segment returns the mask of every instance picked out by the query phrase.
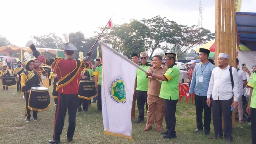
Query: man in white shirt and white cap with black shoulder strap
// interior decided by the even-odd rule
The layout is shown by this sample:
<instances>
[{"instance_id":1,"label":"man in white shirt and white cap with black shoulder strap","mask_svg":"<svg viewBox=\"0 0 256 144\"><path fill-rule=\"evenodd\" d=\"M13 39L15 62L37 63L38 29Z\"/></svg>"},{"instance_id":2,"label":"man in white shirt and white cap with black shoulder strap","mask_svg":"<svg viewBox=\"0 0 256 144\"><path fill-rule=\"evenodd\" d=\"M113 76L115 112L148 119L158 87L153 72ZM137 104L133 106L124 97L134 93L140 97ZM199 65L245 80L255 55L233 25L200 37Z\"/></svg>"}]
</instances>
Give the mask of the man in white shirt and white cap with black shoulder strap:
<instances>
[{"instance_id":1,"label":"man in white shirt and white cap with black shoulder strap","mask_svg":"<svg viewBox=\"0 0 256 144\"><path fill-rule=\"evenodd\" d=\"M230 108L234 106L236 109L238 106L239 82L237 70L228 65L228 58L228 54L224 53L220 53L218 56L218 67L212 70L206 103L210 107L212 102L214 137L211 139L222 138L224 133L225 142L232 142L232 112ZM230 68L232 77L230 76ZM232 78L234 88L232 88ZM223 132L222 113L224 118Z\"/></svg>"}]
</instances>

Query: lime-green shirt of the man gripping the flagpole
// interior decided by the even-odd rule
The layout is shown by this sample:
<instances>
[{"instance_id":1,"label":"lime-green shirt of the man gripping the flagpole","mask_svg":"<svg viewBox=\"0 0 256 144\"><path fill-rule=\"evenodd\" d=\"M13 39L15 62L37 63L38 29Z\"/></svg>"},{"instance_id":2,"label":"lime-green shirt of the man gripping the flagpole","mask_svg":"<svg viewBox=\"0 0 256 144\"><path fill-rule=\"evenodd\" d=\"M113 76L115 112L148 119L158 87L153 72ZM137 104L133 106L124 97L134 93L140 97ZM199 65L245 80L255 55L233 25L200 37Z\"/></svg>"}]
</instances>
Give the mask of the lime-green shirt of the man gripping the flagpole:
<instances>
[{"instance_id":1,"label":"lime-green shirt of the man gripping the flagpole","mask_svg":"<svg viewBox=\"0 0 256 144\"><path fill-rule=\"evenodd\" d=\"M166 78L167 81L162 82L159 97L167 100L178 100L180 69L177 64L175 63L169 66L163 76Z\"/></svg>"}]
</instances>

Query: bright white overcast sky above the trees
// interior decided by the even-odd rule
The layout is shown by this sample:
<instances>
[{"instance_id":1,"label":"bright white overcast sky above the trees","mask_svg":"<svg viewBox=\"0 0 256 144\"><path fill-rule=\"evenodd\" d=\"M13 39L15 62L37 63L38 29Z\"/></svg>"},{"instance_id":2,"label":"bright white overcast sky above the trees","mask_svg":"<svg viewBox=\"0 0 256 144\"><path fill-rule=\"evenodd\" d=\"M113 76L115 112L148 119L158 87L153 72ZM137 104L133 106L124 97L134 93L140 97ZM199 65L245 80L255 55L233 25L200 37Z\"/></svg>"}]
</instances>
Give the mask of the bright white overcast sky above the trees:
<instances>
[{"instance_id":1,"label":"bright white overcast sky above the trees","mask_svg":"<svg viewBox=\"0 0 256 144\"><path fill-rule=\"evenodd\" d=\"M198 25L200 0L1 0L0 35L25 46L32 36L81 31L96 35L112 17L114 24L160 15L182 25ZM202 27L215 31L215 0L201 0ZM242 0L241 12L256 12L256 0Z\"/></svg>"}]
</instances>

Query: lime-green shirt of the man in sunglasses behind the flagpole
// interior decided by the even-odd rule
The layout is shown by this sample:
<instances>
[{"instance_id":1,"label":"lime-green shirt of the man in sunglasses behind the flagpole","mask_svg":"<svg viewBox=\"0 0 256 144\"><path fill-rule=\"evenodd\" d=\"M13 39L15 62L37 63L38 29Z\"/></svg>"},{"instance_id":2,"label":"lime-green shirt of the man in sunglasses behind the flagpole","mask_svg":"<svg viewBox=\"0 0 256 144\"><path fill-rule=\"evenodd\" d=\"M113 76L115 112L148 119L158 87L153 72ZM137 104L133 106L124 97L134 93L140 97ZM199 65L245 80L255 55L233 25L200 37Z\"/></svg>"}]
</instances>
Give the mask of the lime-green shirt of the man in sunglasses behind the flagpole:
<instances>
[{"instance_id":1,"label":"lime-green shirt of the man in sunglasses behind the flagpole","mask_svg":"<svg viewBox=\"0 0 256 144\"><path fill-rule=\"evenodd\" d=\"M145 65L141 65L140 67L142 67L144 70L148 70L150 66L152 66L152 64L146 63ZM138 68L136 72L136 77L137 77L136 90L145 91L145 92L148 91L148 78L146 73Z\"/></svg>"}]
</instances>

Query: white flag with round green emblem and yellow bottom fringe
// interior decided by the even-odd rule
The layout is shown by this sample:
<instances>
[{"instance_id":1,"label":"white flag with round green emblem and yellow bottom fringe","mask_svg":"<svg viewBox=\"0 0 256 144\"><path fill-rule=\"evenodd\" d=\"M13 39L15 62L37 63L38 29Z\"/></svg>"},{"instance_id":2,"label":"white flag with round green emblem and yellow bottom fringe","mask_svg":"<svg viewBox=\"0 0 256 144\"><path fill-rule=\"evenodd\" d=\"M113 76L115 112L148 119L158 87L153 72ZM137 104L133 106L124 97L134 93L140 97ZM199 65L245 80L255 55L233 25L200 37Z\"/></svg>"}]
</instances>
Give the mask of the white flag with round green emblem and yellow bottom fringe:
<instances>
[{"instance_id":1,"label":"white flag with round green emblem and yellow bottom fringe","mask_svg":"<svg viewBox=\"0 0 256 144\"><path fill-rule=\"evenodd\" d=\"M102 47L102 116L104 133L132 140L131 109L137 67Z\"/></svg>"}]
</instances>

